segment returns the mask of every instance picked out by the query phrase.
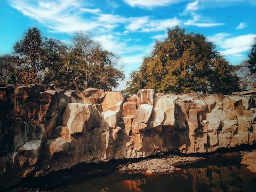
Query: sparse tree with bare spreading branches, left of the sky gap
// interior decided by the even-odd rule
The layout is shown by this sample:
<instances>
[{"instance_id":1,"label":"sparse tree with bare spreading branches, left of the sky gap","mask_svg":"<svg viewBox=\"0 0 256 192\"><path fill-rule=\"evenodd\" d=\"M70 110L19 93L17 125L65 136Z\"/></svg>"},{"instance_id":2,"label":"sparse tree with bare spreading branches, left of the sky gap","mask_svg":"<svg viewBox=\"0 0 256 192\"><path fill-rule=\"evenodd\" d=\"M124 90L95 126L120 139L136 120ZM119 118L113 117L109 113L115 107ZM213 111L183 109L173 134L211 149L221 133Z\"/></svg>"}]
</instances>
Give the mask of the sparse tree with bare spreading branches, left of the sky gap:
<instances>
[{"instance_id":1,"label":"sparse tree with bare spreading branches, left of the sky gap","mask_svg":"<svg viewBox=\"0 0 256 192\"><path fill-rule=\"evenodd\" d=\"M89 36L77 33L74 46L67 47L50 39L45 44L47 55L44 82L54 82L57 87L84 90L88 87L111 90L124 78L123 72L114 68L115 54L103 50ZM60 80L61 79L61 80Z\"/></svg>"}]
</instances>

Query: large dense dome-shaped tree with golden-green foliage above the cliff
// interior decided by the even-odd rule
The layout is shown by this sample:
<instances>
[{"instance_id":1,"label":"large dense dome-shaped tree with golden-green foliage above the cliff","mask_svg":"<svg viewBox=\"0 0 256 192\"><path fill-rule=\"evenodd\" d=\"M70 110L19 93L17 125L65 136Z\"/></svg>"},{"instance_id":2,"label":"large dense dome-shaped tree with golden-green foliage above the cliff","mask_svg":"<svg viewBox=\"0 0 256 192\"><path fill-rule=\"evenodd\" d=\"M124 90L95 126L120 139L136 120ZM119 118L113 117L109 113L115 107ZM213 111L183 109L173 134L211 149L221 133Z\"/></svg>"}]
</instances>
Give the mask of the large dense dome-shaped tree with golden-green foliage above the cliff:
<instances>
[{"instance_id":1,"label":"large dense dome-shaped tree with golden-green foliage above the cliff","mask_svg":"<svg viewBox=\"0 0 256 192\"><path fill-rule=\"evenodd\" d=\"M221 77L224 74L231 79ZM139 88L176 94L237 91L236 76L215 46L203 35L186 34L178 26L168 30L164 41L156 41L151 55L145 57L139 71L131 75L126 89L129 93L136 93ZM216 79L217 75L220 76Z\"/></svg>"}]
</instances>

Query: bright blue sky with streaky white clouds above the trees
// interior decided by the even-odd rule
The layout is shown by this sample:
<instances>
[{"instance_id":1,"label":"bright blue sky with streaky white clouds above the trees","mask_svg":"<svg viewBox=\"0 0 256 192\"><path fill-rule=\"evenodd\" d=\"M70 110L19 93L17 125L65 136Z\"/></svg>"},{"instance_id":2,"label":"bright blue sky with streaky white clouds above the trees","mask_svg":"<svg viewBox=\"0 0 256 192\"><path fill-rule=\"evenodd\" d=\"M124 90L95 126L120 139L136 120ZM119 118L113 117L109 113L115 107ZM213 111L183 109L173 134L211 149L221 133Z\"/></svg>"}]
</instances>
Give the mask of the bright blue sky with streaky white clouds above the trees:
<instances>
[{"instance_id":1,"label":"bright blue sky with streaky white clouds above the trees","mask_svg":"<svg viewBox=\"0 0 256 192\"><path fill-rule=\"evenodd\" d=\"M82 31L118 56L123 90L167 29L203 34L237 65L255 42L255 24L256 0L0 0L0 55L12 53L29 28L67 44Z\"/></svg>"}]
</instances>

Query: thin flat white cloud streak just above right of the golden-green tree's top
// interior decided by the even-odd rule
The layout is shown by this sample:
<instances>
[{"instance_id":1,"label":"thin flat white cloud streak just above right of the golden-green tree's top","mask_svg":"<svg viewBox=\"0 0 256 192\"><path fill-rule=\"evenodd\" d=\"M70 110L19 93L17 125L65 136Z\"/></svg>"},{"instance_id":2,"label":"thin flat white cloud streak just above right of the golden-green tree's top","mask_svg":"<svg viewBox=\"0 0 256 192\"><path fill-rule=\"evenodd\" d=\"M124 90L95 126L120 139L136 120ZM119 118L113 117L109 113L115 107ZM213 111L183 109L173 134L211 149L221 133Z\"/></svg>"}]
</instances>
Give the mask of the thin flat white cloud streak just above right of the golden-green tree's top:
<instances>
[{"instance_id":1,"label":"thin flat white cloud streak just above right of the golden-green tree's top","mask_svg":"<svg viewBox=\"0 0 256 192\"><path fill-rule=\"evenodd\" d=\"M215 26L225 25L225 23L211 22L211 20L209 20L208 18L201 17L194 13L192 13L192 16L193 16L193 19L188 20L187 22L184 23L184 25L194 25L197 27L215 27Z\"/></svg>"}]
</instances>

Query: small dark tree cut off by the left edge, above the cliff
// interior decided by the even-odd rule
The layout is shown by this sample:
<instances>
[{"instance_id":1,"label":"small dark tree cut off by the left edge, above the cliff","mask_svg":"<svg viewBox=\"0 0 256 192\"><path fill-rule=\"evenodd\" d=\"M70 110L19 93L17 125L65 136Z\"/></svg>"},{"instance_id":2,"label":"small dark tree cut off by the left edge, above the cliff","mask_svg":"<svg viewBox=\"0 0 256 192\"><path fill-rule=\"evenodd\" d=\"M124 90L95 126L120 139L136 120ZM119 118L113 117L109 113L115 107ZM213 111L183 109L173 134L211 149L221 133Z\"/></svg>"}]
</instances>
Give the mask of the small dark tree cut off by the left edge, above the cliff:
<instances>
[{"instance_id":1,"label":"small dark tree cut off by the left edge, above the cliff","mask_svg":"<svg viewBox=\"0 0 256 192\"><path fill-rule=\"evenodd\" d=\"M13 56L3 55L0 57L0 82L15 83L14 72L15 66Z\"/></svg>"}]
</instances>

